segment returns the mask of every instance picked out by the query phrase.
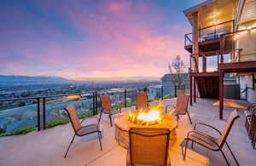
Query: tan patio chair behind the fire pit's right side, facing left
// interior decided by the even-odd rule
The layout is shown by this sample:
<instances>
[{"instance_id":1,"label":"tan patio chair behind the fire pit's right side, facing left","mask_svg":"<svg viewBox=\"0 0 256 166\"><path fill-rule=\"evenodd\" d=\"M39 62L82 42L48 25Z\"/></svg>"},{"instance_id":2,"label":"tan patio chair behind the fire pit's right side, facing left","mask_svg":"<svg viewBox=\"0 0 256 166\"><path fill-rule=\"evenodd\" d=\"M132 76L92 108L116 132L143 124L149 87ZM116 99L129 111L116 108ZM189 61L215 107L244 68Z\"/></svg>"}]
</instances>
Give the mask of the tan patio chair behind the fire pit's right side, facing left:
<instances>
[{"instance_id":1,"label":"tan patio chair behind the fire pit's right side, facing left","mask_svg":"<svg viewBox=\"0 0 256 166\"><path fill-rule=\"evenodd\" d=\"M177 117L177 126L178 126L179 116L185 115L185 114L188 115L189 122L192 124L192 120L191 120L191 117L190 117L189 111L188 111L189 97L190 97L189 95L177 95L176 106L172 106L172 105L166 106L166 113L170 112L172 110L175 112L174 115ZM170 106L172 107L172 109L169 109Z\"/></svg>"}]
</instances>

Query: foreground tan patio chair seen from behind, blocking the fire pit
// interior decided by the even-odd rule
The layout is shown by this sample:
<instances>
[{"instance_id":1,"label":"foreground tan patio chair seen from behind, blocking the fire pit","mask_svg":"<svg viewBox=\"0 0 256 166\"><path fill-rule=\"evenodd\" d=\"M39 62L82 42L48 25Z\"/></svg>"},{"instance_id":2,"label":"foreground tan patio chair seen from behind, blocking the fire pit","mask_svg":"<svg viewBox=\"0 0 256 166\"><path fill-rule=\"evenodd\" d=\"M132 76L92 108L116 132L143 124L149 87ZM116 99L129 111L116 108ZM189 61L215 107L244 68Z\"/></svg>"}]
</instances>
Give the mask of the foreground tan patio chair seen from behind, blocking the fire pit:
<instances>
[{"instance_id":1,"label":"foreground tan patio chair seen from behind, blocking the fire pit","mask_svg":"<svg viewBox=\"0 0 256 166\"><path fill-rule=\"evenodd\" d=\"M126 166L135 164L171 166L169 158L169 129L131 128Z\"/></svg>"}]
</instances>

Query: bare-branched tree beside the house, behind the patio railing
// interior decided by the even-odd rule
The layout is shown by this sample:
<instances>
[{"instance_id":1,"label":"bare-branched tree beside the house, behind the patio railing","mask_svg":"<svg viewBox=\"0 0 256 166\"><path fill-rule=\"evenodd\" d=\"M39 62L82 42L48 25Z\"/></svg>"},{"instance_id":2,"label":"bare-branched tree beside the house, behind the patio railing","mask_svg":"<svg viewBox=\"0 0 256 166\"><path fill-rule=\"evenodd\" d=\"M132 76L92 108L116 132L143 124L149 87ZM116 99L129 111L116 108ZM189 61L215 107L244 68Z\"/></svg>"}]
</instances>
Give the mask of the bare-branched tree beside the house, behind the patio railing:
<instances>
[{"instance_id":1,"label":"bare-branched tree beside the house, behind the patio railing","mask_svg":"<svg viewBox=\"0 0 256 166\"><path fill-rule=\"evenodd\" d=\"M180 55L177 55L172 60L172 64L169 64L168 68L172 84L177 85L177 88L181 89L181 86L185 83L185 64L181 59Z\"/></svg>"}]
</instances>

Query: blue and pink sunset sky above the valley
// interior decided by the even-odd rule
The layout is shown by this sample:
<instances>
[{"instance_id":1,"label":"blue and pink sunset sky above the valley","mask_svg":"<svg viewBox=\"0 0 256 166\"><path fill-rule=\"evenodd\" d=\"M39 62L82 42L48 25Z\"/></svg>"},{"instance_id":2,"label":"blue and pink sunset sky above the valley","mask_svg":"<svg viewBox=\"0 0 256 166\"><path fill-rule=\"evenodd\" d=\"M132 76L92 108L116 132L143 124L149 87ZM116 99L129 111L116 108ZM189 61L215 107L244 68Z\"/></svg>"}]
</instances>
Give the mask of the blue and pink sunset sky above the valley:
<instances>
[{"instance_id":1,"label":"blue and pink sunset sky above the valley","mask_svg":"<svg viewBox=\"0 0 256 166\"><path fill-rule=\"evenodd\" d=\"M0 75L161 77L201 0L1 0Z\"/></svg>"}]
</instances>

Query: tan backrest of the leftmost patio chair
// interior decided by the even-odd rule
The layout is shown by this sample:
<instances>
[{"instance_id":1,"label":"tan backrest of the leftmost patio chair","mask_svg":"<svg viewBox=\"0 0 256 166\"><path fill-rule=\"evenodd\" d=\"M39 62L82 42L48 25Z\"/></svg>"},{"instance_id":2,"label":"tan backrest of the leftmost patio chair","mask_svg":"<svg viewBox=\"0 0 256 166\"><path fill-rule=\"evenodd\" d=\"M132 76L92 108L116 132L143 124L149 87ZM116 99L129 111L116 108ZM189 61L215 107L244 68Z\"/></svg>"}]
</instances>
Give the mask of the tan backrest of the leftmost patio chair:
<instances>
[{"instance_id":1,"label":"tan backrest of the leftmost patio chair","mask_svg":"<svg viewBox=\"0 0 256 166\"><path fill-rule=\"evenodd\" d=\"M72 123L73 130L75 133L77 133L77 131L81 128L81 123L79 122L79 116L75 107L73 105L68 105L65 107L65 110L67 111L70 122Z\"/></svg>"}]
</instances>

